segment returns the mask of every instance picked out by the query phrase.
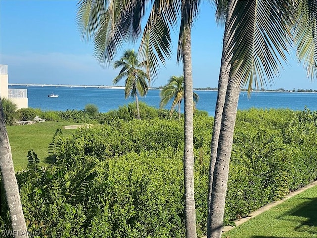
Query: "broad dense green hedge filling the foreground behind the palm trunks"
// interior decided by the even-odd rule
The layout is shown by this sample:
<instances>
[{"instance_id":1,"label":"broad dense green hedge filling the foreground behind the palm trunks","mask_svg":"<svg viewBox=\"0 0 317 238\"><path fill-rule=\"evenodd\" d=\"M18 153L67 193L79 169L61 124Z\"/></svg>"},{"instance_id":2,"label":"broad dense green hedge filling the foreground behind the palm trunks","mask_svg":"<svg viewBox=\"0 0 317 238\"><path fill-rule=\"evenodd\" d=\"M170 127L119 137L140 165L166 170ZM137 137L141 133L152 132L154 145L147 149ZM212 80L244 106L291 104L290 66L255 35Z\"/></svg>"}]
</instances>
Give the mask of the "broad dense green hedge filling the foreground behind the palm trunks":
<instances>
[{"instance_id":1,"label":"broad dense green hedge filling the foreground behind the palm trunks","mask_svg":"<svg viewBox=\"0 0 317 238\"><path fill-rule=\"evenodd\" d=\"M109 120L80 129L41 168L17 175L29 230L41 237L184 237L183 120ZM195 202L206 232L213 119L194 117ZM317 179L317 113L239 111L224 223ZM1 228L10 224L1 192Z\"/></svg>"}]
</instances>

